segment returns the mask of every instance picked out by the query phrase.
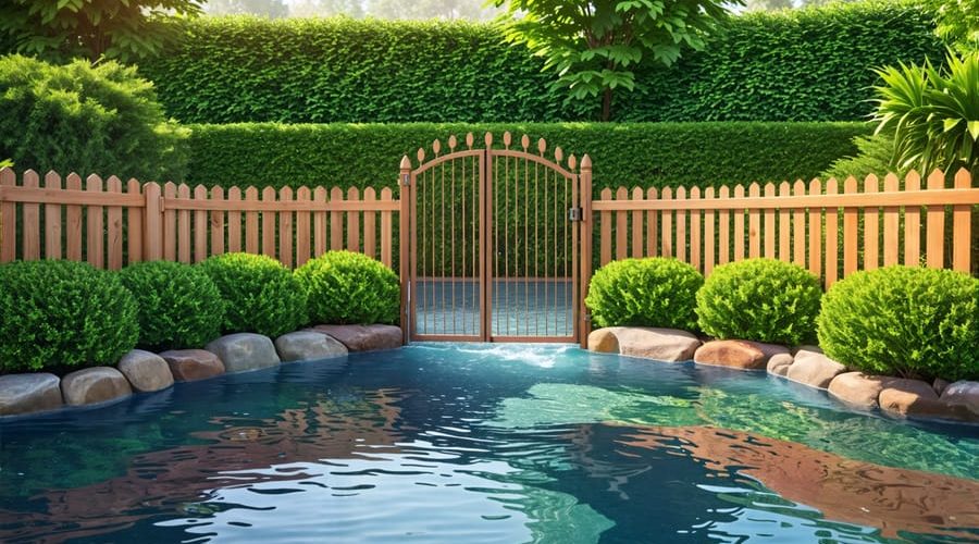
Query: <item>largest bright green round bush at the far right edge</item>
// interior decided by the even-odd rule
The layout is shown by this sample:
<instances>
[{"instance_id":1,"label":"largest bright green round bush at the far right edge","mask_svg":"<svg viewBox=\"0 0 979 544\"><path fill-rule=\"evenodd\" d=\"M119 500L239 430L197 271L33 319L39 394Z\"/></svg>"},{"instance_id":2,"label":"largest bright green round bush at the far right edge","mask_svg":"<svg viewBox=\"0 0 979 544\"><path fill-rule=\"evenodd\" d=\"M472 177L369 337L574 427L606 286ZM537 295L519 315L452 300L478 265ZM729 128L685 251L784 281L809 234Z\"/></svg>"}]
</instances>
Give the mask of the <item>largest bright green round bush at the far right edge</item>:
<instances>
[{"instance_id":1,"label":"largest bright green round bush at the far right edge","mask_svg":"<svg viewBox=\"0 0 979 544\"><path fill-rule=\"evenodd\" d=\"M877 374L979 379L979 280L903 265L856 272L830 287L819 345Z\"/></svg>"}]
</instances>

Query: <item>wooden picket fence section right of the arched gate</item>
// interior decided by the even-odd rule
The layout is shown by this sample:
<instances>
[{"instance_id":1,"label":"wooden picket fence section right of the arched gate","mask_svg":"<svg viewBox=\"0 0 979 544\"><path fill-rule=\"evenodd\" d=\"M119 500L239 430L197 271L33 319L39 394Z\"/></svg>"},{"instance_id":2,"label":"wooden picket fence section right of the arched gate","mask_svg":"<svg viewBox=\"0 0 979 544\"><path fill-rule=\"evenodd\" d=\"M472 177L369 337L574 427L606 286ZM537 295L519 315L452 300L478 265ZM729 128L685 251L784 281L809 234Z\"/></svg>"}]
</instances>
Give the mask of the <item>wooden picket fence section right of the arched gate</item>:
<instances>
[{"instance_id":1,"label":"wooden picket fence section right of the arched gate","mask_svg":"<svg viewBox=\"0 0 979 544\"><path fill-rule=\"evenodd\" d=\"M709 275L718 264L767 257L807 268L827 287L880 265L976 268L971 207L979 188L971 188L968 171L955 174L952 188L940 171L925 188L916 172L903 181L870 175L863 184L848 177L842 185L830 178L778 187L606 188L592 201L599 263L676 257Z\"/></svg>"}]
</instances>

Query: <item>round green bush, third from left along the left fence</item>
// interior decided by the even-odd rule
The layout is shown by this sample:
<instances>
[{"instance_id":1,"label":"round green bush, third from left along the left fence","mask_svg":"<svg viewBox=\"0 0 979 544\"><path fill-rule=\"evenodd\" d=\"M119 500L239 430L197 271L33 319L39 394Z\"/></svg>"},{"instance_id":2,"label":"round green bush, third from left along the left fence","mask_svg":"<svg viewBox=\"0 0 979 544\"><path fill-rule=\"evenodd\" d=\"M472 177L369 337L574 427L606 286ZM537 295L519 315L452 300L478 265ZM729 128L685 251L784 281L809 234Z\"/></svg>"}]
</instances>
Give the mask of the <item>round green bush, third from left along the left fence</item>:
<instances>
[{"instance_id":1,"label":"round green bush, third from left along the left fence","mask_svg":"<svg viewBox=\"0 0 979 544\"><path fill-rule=\"evenodd\" d=\"M307 322L306 292L293 273L263 255L225 254L198 264L224 299L226 333L278 336Z\"/></svg>"}]
</instances>

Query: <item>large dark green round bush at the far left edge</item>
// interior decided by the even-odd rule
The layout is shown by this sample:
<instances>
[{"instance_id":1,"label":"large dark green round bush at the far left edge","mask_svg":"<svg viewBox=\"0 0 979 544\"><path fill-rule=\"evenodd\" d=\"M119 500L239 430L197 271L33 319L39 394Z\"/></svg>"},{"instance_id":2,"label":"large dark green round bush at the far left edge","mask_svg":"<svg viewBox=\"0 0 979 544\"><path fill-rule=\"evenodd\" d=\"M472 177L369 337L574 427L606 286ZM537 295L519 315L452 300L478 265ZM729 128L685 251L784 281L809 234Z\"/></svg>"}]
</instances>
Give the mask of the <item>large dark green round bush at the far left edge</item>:
<instances>
[{"instance_id":1,"label":"large dark green round bush at the far left edge","mask_svg":"<svg viewBox=\"0 0 979 544\"><path fill-rule=\"evenodd\" d=\"M74 261L0 265L0 370L115 364L136 346L136 301L115 274Z\"/></svg>"}]
</instances>

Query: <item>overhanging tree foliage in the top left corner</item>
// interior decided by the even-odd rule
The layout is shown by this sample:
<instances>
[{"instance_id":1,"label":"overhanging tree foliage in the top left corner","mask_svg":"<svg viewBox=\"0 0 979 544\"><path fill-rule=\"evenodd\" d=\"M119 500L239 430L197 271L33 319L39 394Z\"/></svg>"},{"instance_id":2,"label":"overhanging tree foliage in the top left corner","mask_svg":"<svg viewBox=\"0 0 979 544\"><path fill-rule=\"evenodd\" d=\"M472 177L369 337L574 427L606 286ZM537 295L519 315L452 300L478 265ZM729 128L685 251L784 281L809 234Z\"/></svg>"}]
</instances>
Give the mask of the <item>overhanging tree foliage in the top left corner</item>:
<instances>
[{"instance_id":1,"label":"overhanging tree foliage in the top left corner","mask_svg":"<svg viewBox=\"0 0 979 544\"><path fill-rule=\"evenodd\" d=\"M64 61L123 62L176 38L164 20L200 14L201 0L3 0L0 34L18 52Z\"/></svg>"}]
</instances>

